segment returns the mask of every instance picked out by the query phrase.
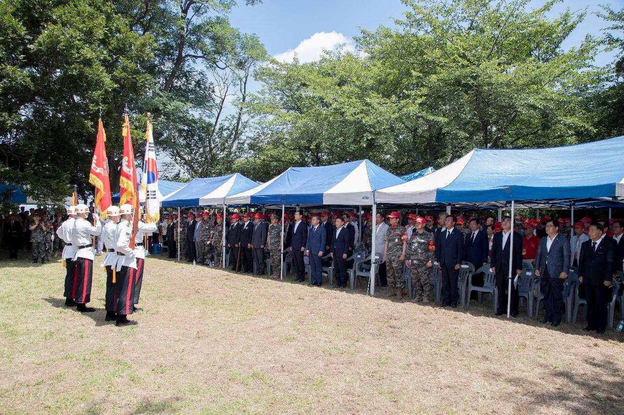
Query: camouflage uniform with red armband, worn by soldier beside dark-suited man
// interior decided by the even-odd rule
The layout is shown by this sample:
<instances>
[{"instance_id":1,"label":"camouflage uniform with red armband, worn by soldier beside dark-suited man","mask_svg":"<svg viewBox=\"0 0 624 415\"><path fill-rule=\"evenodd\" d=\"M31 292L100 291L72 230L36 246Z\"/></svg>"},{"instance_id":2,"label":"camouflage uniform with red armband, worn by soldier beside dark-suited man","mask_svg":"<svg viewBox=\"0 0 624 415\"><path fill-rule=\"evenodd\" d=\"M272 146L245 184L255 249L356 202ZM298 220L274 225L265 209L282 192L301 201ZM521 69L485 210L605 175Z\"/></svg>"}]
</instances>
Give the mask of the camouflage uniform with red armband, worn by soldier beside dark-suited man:
<instances>
[{"instance_id":1,"label":"camouflage uniform with red armband, worn by soldier beside dark-suited man","mask_svg":"<svg viewBox=\"0 0 624 415\"><path fill-rule=\"evenodd\" d=\"M407 240L407 250L405 259L410 261L410 273L412 275L412 290L414 299L420 301L422 297L429 298L429 275L431 268L427 268L427 262L433 264L436 257L436 244L433 234L422 232L419 234L416 229L412 231L411 237Z\"/></svg>"}]
</instances>

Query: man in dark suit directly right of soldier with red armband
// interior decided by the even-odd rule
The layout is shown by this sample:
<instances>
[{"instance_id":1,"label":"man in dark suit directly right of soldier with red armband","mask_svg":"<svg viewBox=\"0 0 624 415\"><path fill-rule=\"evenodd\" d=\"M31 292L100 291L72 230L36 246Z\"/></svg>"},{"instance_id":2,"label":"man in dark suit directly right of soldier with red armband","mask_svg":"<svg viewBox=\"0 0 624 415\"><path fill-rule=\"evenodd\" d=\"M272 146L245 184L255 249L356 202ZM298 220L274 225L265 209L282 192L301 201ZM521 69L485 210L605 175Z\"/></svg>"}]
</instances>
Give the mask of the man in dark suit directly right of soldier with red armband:
<instances>
[{"instance_id":1,"label":"man in dark suit directly right of soldier with red armband","mask_svg":"<svg viewBox=\"0 0 624 415\"><path fill-rule=\"evenodd\" d=\"M464 258L464 234L455 229L456 222L455 216L447 216L436 241L437 266L442 270L442 307L456 308L459 300L457 279Z\"/></svg>"}]
</instances>

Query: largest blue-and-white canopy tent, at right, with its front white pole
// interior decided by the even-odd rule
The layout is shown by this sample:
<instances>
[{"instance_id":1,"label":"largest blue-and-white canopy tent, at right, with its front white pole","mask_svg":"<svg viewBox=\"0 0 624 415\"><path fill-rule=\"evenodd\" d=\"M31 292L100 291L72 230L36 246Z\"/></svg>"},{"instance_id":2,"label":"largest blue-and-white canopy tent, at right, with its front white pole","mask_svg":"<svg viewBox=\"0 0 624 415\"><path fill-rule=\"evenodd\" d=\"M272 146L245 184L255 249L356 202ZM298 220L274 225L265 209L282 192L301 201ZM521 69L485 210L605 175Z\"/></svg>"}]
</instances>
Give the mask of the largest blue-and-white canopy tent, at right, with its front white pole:
<instances>
[{"instance_id":1,"label":"largest blue-and-white canopy tent, at right, with its front white pole","mask_svg":"<svg viewBox=\"0 0 624 415\"><path fill-rule=\"evenodd\" d=\"M427 176L376 191L374 201L511 202L512 217L518 201L550 202L553 205L588 198L617 201L624 197L623 151L624 136L552 148L475 149ZM512 250L513 238L510 252ZM509 267L511 275L511 261ZM510 297L507 317L509 302Z\"/></svg>"}]
</instances>

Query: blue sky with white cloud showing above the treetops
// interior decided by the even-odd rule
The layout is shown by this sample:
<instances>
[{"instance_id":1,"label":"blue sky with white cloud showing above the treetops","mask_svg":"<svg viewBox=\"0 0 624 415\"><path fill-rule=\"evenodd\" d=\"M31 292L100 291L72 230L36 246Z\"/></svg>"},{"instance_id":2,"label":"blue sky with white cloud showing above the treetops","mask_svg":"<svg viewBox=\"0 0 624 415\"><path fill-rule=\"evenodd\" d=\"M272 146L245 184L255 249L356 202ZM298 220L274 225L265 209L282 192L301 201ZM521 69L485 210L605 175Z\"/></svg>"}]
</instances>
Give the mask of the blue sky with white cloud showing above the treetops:
<instances>
[{"instance_id":1,"label":"blue sky with white cloud showing above the treetops","mask_svg":"<svg viewBox=\"0 0 624 415\"><path fill-rule=\"evenodd\" d=\"M392 26L393 17L402 17L406 10L400 0L264 0L256 6L244 6L242 0L239 3L243 5L236 7L230 16L233 26L257 34L269 54L291 59L296 50L301 60L315 59L323 48L348 44L352 37L358 36L359 27L373 30L380 24ZM542 4L543 0L531 2L534 7ZM585 34L602 34L606 24L592 14L599 10L598 4L621 9L624 0L565 0L555 5L553 17L567 7L572 10L587 7L590 12L563 44L564 48L579 44ZM606 52L598 55L595 64L605 65L612 60L613 54Z\"/></svg>"}]
</instances>

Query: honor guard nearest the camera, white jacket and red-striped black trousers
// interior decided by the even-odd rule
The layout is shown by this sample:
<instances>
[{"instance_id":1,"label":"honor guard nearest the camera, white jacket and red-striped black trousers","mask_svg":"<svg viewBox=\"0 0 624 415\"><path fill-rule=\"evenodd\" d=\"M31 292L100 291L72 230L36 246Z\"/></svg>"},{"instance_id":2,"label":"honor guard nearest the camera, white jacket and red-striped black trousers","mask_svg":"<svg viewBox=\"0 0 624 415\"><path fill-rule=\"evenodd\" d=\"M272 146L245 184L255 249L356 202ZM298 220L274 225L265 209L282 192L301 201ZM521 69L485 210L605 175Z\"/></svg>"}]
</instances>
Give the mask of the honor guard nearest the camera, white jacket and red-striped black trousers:
<instances>
[{"instance_id":1,"label":"honor guard nearest the camera, white jacket and red-striped black trousers","mask_svg":"<svg viewBox=\"0 0 624 415\"><path fill-rule=\"evenodd\" d=\"M115 313L117 314L116 326L134 325L136 322L128 320L128 315L134 312L134 282L137 273L137 260L135 251L130 248L132 238L132 205L122 204L119 207L121 220L115 228L115 251L117 262L115 264ZM137 232L138 233L138 232Z\"/></svg>"}]
</instances>

